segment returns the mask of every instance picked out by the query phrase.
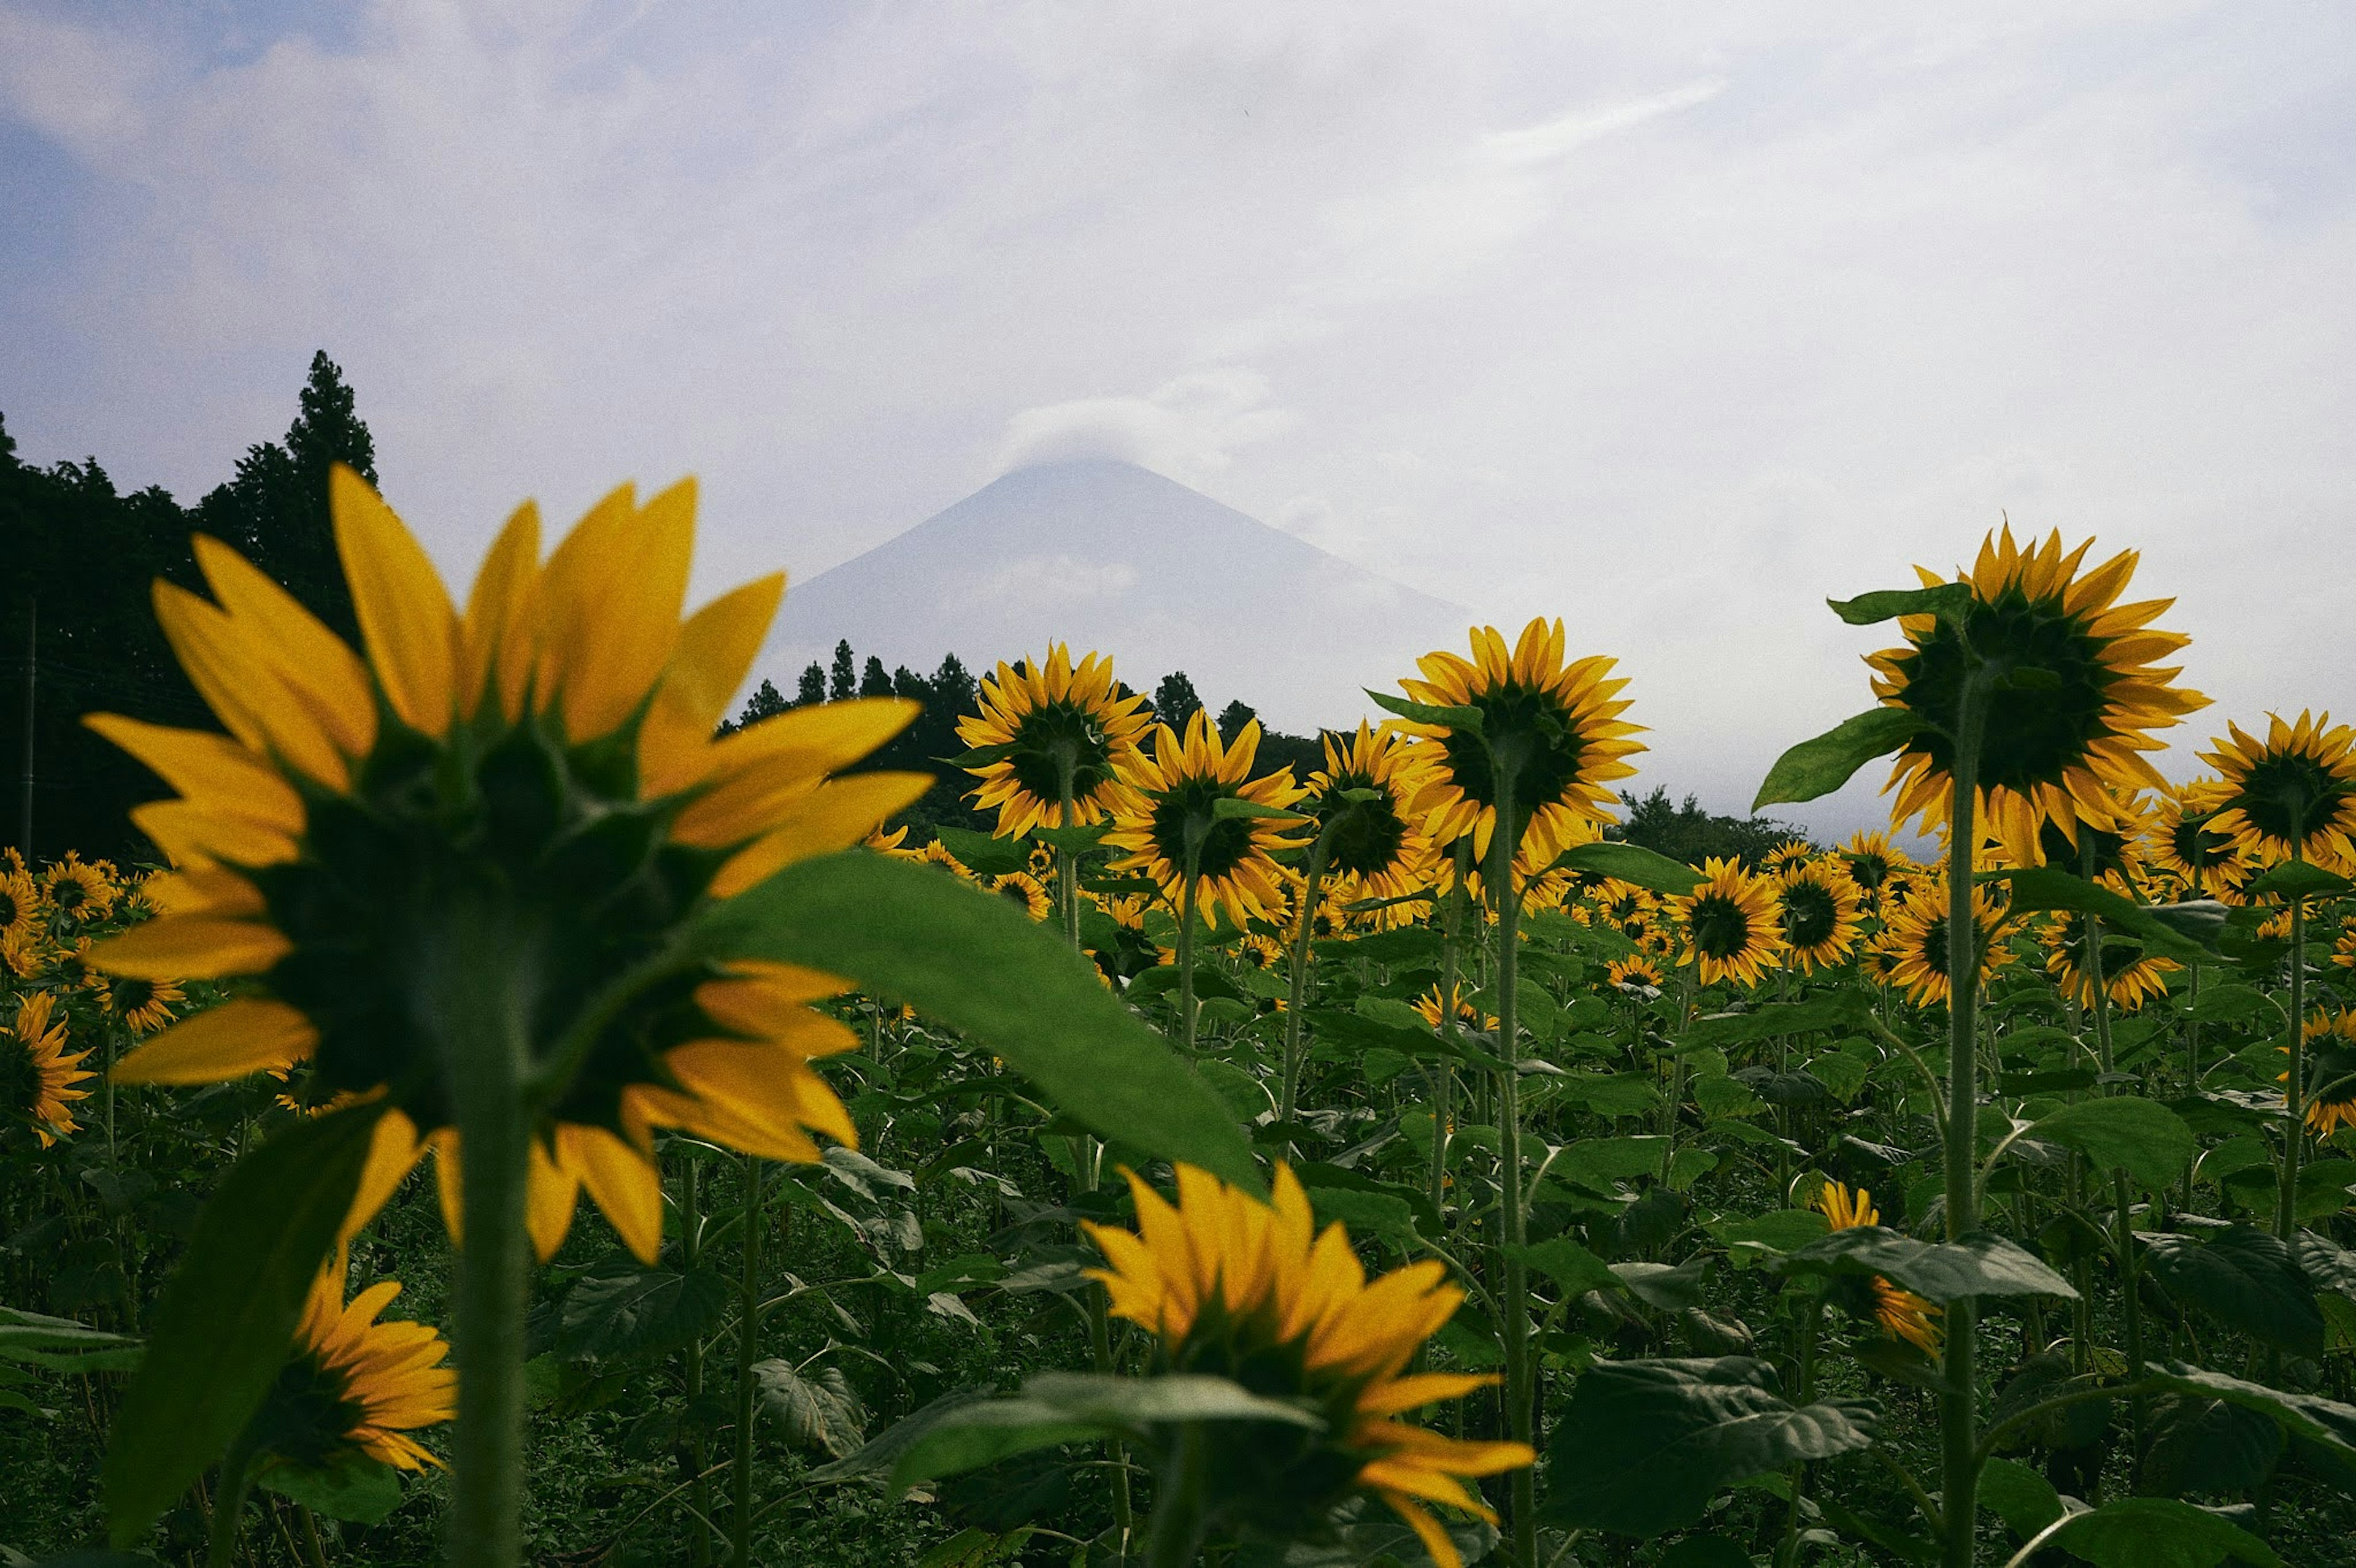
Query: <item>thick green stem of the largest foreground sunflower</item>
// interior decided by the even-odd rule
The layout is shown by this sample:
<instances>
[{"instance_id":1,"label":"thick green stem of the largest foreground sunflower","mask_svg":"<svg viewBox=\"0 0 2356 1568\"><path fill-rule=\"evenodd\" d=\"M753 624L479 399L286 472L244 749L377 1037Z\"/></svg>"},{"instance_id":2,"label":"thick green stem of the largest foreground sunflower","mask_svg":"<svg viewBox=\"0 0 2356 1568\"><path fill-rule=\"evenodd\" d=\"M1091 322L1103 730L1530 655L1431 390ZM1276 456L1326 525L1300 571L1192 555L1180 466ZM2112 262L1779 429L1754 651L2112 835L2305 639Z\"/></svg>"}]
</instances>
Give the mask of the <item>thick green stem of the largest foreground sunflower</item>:
<instances>
[{"instance_id":1,"label":"thick green stem of the largest foreground sunflower","mask_svg":"<svg viewBox=\"0 0 2356 1568\"><path fill-rule=\"evenodd\" d=\"M530 1180L528 979L511 918L462 902L422 965L464 1151L457 1264L457 1424L450 1457L450 1561L516 1568L523 1514L523 1304Z\"/></svg>"}]
</instances>

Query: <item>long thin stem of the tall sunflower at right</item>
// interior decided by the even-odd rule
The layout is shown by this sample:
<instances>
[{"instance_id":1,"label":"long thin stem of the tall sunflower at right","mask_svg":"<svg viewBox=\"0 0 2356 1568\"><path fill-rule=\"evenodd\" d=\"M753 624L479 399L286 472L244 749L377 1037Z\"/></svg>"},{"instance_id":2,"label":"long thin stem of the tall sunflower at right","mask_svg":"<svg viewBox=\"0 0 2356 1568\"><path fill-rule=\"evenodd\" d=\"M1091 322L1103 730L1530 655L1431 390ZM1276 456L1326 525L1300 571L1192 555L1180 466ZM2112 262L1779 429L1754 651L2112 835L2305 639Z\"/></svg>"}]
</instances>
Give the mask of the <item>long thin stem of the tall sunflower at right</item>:
<instances>
[{"instance_id":1,"label":"long thin stem of the tall sunflower at right","mask_svg":"<svg viewBox=\"0 0 2356 1568\"><path fill-rule=\"evenodd\" d=\"M1986 664L1974 664L1955 702L1946 838L1946 1238L1979 1227L1979 921L1972 916L1972 871L1979 862L1979 744L1988 702ZM1946 1387L1939 1394L1941 1495L1939 1516L1946 1568L1972 1568L1979 1523L1977 1302L1958 1297L1946 1309Z\"/></svg>"}]
</instances>

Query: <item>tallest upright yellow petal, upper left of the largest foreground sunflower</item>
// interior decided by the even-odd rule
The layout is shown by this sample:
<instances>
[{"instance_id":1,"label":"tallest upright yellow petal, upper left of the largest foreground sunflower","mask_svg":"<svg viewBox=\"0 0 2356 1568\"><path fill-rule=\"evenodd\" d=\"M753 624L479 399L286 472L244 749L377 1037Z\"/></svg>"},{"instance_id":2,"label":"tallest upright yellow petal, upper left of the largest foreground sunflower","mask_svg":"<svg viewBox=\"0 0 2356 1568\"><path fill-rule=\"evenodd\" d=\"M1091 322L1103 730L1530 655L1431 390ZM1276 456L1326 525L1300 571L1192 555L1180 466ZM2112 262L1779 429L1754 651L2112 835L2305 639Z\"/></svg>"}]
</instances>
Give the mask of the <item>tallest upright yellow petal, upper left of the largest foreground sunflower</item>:
<instances>
[{"instance_id":1,"label":"tallest upright yellow petal, upper left of the largest foreground sunflower","mask_svg":"<svg viewBox=\"0 0 2356 1568\"><path fill-rule=\"evenodd\" d=\"M344 464L327 471L335 549L384 699L412 730L450 732L457 610L441 572L384 497Z\"/></svg>"}]
</instances>

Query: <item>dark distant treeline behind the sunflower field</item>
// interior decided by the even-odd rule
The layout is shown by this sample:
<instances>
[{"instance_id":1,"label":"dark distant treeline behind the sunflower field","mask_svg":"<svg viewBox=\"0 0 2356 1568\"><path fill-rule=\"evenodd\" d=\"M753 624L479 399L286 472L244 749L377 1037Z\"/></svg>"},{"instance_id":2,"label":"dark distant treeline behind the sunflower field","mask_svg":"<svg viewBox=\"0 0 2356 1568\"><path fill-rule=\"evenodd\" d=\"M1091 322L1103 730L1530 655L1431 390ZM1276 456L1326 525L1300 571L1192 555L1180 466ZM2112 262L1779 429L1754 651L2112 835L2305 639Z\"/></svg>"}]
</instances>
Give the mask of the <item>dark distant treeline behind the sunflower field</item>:
<instances>
[{"instance_id":1,"label":"dark distant treeline behind the sunflower field","mask_svg":"<svg viewBox=\"0 0 2356 1568\"><path fill-rule=\"evenodd\" d=\"M151 598L158 577L203 589L188 549L193 532L236 546L358 643L327 523L327 469L337 461L377 483L375 440L351 384L325 353L311 356L285 438L247 447L229 480L196 506L181 506L160 485L125 494L97 457L47 469L19 461L0 414L0 551L12 565L0 596L0 772L14 784L0 789L0 800L12 808L0 810L0 843L16 845L26 859L54 859L66 850L123 862L155 857L127 812L170 791L85 730L80 718L113 711L214 727L155 626ZM839 643L832 666L813 662L803 669L792 697L763 680L733 723L846 697L921 702L924 716L876 753L874 765L945 775L900 817L924 841L942 822L990 826L957 793L952 770L942 768L966 749L957 739L957 718L973 711L975 683L975 671L957 655L945 655L931 676L921 676L907 666L886 671L872 655L860 664L851 643ZM1185 725L1202 706L1183 671L1171 671L1152 690L1154 716L1171 725ZM1218 711L1216 723L1232 739L1251 718L1253 709L1237 699ZM1322 763L1317 737L1260 737L1260 772L1291 765L1296 777L1305 777ZM1800 836L1781 822L1703 812L1692 796L1673 803L1666 789L1623 800L1628 841L1687 862L1706 855L1755 862Z\"/></svg>"}]
</instances>

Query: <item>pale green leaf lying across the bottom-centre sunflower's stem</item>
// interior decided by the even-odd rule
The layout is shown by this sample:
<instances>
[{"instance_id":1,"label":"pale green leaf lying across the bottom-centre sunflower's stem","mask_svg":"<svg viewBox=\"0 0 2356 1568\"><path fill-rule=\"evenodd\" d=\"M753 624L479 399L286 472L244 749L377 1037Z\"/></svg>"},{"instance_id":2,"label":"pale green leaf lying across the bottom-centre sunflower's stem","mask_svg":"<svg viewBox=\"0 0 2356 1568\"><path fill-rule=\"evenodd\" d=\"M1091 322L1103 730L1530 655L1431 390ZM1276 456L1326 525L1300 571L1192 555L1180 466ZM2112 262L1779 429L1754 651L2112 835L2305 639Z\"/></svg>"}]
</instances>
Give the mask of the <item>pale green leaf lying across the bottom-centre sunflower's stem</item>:
<instances>
[{"instance_id":1,"label":"pale green leaf lying across the bottom-centre sunflower's stem","mask_svg":"<svg viewBox=\"0 0 2356 1568\"><path fill-rule=\"evenodd\" d=\"M1284 1422L1319 1429L1324 1422L1275 1398L1260 1398L1225 1377L1110 1377L1041 1373L1020 1394L949 1410L900 1453L891 1490L994 1464L1034 1448L1105 1436L1150 1441L1147 1429L1173 1422Z\"/></svg>"}]
</instances>

